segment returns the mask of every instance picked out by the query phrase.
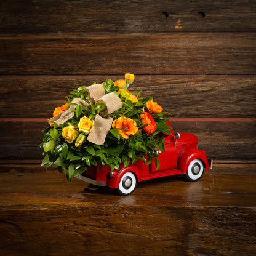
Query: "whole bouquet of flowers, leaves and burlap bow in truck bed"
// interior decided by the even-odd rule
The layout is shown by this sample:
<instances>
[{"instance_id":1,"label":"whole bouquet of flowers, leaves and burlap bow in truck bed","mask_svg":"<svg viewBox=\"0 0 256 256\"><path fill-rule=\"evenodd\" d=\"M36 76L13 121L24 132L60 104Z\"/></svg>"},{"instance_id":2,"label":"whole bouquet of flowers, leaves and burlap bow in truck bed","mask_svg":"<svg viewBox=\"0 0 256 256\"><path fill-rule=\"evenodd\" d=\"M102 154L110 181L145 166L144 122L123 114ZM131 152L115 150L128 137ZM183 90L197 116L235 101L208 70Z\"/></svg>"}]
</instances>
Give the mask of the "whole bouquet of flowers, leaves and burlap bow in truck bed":
<instances>
[{"instance_id":1,"label":"whole bouquet of flowers, leaves and burlap bow in truck bed","mask_svg":"<svg viewBox=\"0 0 256 256\"><path fill-rule=\"evenodd\" d=\"M164 137L170 134L164 114L170 113L153 97L138 97L142 90L127 90L132 82L134 74L125 74L125 79L73 90L43 131L42 166L57 165L68 181L98 161L118 170L121 163L154 160L158 169L158 150L164 151Z\"/></svg>"}]
</instances>

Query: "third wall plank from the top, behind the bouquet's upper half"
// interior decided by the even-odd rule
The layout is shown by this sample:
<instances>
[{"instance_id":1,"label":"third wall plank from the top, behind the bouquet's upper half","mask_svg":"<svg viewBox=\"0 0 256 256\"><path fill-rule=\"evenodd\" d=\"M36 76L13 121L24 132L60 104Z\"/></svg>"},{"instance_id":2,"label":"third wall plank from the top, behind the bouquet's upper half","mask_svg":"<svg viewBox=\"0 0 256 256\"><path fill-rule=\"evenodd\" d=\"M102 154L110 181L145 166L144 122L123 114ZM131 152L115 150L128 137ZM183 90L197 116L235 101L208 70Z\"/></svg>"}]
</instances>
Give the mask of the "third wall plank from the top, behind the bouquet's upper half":
<instances>
[{"instance_id":1,"label":"third wall plank from the top, behind the bouquet's upper half","mask_svg":"<svg viewBox=\"0 0 256 256\"><path fill-rule=\"evenodd\" d=\"M71 90L120 76L1 76L0 118L50 118ZM129 90L143 90L182 118L255 118L255 76L137 76ZM25 100L21 100L25 99Z\"/></svg>"}]
</instances>

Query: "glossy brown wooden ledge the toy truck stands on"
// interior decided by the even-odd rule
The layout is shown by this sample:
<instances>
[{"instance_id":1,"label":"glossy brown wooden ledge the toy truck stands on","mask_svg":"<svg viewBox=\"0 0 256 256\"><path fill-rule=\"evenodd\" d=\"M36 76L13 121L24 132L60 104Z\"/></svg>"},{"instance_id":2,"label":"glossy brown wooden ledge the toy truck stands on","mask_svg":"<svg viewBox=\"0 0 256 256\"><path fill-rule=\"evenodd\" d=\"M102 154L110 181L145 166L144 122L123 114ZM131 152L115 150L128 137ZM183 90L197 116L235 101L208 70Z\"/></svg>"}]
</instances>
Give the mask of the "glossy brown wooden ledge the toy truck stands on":
<instances>
[{"instance_id":1,"label":"glossy brown wooden ledge the toy truck stands on","mask_svg":"<svg viewBox=\"0 0 256 256\"><path fill-rule=\"evenodd\" d=\"M58 172L0 174L2 254L255 255L255 176L143 182L130 196ZM125 245L125 246L124 246Z\"/></svg>"}]
</instances>

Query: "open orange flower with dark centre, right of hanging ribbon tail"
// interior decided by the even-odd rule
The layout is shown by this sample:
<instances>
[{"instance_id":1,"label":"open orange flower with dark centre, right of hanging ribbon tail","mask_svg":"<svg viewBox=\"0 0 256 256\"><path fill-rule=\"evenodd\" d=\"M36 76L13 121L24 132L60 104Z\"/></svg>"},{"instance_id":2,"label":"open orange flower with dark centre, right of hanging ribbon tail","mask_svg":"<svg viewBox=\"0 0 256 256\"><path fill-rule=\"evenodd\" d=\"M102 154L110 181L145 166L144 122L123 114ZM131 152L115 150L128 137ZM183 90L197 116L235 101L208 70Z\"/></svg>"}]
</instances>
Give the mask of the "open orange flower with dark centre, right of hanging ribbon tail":
<instances>
[{"instance_id":1,"label":"open orange flower with dark centre, right of hanging ribbon tail","mask_svg":"<svg viewBox=\"0 0 256 256\"><path fill-rule=\"evenodd\" d=\"M123 138L129 138L129 135L134 135L138 132L136 122L131 118L126 118L125 116L115 119L113 121L112 128L122 129L118 130L118 132Z\"/></svg>"}]
</instances>

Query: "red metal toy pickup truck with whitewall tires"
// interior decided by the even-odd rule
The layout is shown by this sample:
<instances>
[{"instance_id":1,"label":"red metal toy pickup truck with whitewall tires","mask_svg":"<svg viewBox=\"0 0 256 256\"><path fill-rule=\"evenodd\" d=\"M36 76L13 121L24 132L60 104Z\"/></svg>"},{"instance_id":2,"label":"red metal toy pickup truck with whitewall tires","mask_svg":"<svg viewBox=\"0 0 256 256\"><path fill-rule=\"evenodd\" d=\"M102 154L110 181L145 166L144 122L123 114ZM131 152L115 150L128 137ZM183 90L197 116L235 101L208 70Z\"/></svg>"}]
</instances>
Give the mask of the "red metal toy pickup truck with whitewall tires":
<instances>
[{"instance_id":1,"label":"red metal toy pickup truck with whitewall tires","mask_svg":"<svg viewBox=\"0 0 256 256\"><path fill-rule=\"evenodd\" d=\"M170 124L169 124L170 126ZM110 170L110 166L91 166L78 178L97 186L116 188L121 195L131 194L137 182L152 178L175 174L185 174L186 178L195 182L201 178L204 169L212 169L212 160L206 157L204 150L198 150L198 138L185 132L165 137L165 151L159 151L160 167L156 169L154 161L147 165L140 159L126 168L121 164L119 170Z\"/></svg>"}]
</instances>

